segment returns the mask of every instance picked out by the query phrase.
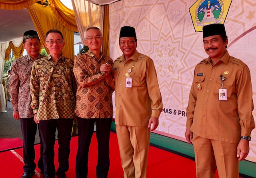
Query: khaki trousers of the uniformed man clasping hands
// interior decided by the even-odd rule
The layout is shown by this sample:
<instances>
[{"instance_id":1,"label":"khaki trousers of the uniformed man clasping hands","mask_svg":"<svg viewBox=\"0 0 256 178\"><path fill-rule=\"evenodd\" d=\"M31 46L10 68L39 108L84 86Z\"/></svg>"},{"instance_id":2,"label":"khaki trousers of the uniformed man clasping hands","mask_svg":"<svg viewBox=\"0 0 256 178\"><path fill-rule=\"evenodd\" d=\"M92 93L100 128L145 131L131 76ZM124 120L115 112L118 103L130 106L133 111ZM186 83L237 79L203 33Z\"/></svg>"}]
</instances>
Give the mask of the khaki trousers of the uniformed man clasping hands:
<instances>
[{"instance_id":1,"label":"khaki trousers of the uniformed man clasping hands","mask_svg":"<svg viewBox=\"0 0 256 178\"><path fill-rule=\"evenodd\" d=\"M116 125L124 178L146 178L150 129Z\"/></svg>"}]
</instances>

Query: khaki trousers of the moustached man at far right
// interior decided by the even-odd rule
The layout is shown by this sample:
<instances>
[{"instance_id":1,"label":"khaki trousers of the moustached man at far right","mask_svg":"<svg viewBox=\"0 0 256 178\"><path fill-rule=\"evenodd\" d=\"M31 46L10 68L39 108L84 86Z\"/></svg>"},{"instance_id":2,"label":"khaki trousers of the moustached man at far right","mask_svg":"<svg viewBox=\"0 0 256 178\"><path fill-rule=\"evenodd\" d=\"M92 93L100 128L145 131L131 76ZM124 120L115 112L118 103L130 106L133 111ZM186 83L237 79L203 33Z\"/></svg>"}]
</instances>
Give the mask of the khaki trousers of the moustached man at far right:
<instances>
[{"instance_id":1,"label":"khaki trousers of the moustached man at far right","mask_svg":"<svg viewBox=\"0 0 256 178\"><path fill-rule=\"evenodd\" d=\"M193 135L197 178L215 178L216 166L219 178L239 178L237 146L218 140Z\"/></svg>"}]
</instances>

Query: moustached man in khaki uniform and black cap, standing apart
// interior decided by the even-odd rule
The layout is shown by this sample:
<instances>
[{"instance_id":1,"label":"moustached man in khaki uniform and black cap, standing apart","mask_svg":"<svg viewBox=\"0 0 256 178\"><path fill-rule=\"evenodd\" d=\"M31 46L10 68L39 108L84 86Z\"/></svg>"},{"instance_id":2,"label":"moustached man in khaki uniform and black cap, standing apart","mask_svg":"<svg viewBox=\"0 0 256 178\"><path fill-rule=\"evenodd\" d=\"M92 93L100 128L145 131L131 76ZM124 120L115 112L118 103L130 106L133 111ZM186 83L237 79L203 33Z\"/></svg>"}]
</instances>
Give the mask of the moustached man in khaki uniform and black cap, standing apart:
<instances>
[{"instance_id":1,"label":"moustached man in khaki uniform and black cap, standing apart","mask_svg":"<svg viewBox=\"0 0 256 178\"><path fill-rule=\"evenodd\" d=\"M194 144L197 178L214 178L216 166L220 178L238 178L255 128L250 70L228 54L223 24L204 26L203 36L209 57L194 71L185 136Z\"/></svg>"}]
</instances>

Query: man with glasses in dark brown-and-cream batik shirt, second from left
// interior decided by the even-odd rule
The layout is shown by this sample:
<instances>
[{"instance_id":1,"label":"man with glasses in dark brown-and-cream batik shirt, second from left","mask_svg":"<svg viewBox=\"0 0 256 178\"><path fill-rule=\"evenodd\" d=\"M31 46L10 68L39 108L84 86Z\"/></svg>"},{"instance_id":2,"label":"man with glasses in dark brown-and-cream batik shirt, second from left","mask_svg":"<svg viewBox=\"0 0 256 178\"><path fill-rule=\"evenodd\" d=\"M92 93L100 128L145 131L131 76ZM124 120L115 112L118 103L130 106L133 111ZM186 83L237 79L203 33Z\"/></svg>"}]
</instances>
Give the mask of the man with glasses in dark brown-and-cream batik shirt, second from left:
<instances>
[{"instance_id":1,"label":"man with glasses in dark brown-and-cream batik shirt, second from left","mask_svg":"<svg viewBox=\"0 0 256 178\"><path fill-rule=\"evenodd\" d=\"M31 72L30 92L34 121L39 128L44 145L42 154L44 178L66 178L70 140L75 109L76 80L73 61L62 55L65 45L59 30L46 33L46 47L50 54L34 62ZM55 173L54 144L58 129L58 161Z\"/></svg>"}]
</instances>

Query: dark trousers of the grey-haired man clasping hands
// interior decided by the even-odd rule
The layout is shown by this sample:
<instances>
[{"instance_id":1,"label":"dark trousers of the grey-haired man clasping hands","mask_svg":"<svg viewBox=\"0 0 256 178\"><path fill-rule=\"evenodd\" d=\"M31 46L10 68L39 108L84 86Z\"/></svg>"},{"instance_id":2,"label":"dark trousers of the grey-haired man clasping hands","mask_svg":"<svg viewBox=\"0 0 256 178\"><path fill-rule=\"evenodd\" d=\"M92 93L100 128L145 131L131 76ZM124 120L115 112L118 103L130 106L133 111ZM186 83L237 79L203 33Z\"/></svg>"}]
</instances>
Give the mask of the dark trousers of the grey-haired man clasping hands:
<instances>
[{"instance_id":1,"label":"dark trousers of the grey-haired man clasping hands","mask_svg":"<svg viewBox=\"0 0 256 178\"><path fill-rule=\"evenodd\" d=\"M107 178L110 165L109 137L112 118L77 118L78 150L76 154L76 177L87 178L88 153L96 123L96 138L98 141L98 164L96 166L97 178Z\"/></svg>"}]
</instances>

